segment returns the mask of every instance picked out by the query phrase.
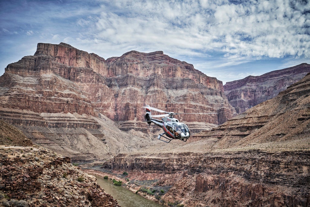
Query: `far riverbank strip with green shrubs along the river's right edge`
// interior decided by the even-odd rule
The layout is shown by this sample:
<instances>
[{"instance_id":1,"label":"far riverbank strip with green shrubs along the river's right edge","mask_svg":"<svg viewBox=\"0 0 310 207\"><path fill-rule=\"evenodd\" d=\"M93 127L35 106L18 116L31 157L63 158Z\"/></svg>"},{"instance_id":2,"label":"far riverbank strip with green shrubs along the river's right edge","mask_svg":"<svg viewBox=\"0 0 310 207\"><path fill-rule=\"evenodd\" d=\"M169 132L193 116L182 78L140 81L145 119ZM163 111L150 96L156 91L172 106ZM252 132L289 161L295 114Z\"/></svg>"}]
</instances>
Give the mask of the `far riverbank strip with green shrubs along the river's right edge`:
<instances>
[{"instance_id":1,"label":"far riverbank strip with green shrubs along the river's right edge","mask_svg":"<svg viewBox=\"0 0 310 207\"><path fill-rule=\"evenodd\" d=\"M163 202L161 202L160 195L159 194L164 194L165 190L162 189L156 189L155 187L151 187L152 183L154 183L154 180L148 181L136 181L136 180L130 180L130 176L125 176L124 178L120 177L122 176L121 172L116 172L117 174L112 174L112 173L105 173L102 171L94 170L94 169L82 169L83 172L88 173L88 174L93 174L100 176L104 178L105 176L108 176L108 179L115 179L117 181L122 181L122 187L139 194L140 196L148 199L148 200L153 200L156 203L164 205ZM118 174L119 173L119 174ZM144 185L141 185L144 184ZM159 193L156 193L156 191L159 191ZM152 195L153 194L153 195Z\"/></svg>"}]
</instances>

